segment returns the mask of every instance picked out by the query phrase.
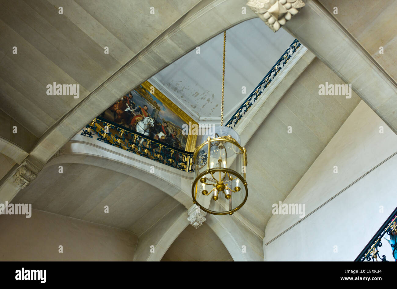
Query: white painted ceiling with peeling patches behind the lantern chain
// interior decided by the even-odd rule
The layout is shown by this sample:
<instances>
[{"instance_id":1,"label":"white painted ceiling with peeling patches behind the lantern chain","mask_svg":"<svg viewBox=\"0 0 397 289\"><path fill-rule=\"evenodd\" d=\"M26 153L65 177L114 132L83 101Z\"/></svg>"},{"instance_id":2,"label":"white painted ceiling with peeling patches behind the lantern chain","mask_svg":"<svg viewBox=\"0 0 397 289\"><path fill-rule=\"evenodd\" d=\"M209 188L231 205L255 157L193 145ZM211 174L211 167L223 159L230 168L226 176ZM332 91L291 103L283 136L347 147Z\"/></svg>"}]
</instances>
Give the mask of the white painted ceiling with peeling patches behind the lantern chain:
<instances>
[{"instance_id":1,"label":"white painted ceiling with peeling patches behind the lantern chain","mask_svg":"<svg viewBox=\"0 0 397 289\"><path fill-rule=\"evenodd\" d=\"M199 28L198 28L199 29ZM226 31L225 121L240 107L294 38L259 18ZM197 121L220 120L223 33L173 62L149 81ZM242 93L245 86L247 93Z\"/></svg>"}]
</instances>

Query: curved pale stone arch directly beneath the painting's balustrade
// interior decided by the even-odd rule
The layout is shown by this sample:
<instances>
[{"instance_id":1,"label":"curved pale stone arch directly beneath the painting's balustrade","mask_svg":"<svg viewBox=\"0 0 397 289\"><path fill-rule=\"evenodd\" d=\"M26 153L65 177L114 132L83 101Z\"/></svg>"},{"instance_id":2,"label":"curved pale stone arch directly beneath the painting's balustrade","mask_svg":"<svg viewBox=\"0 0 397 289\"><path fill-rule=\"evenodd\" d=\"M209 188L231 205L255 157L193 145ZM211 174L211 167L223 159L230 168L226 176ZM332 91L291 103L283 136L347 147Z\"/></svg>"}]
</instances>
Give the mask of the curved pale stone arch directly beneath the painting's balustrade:
<instances>
[{"instance_id":1,"label":"curved pale stone arch directly beneath the painting's balustrade","mask_svg":"<svg viewBox=\"0 0 397 289\"><path fill-rule=\"evenodd\" d=\"M80 163L117 171L156 186L187 208L192 204L189 195L193 180L191 173L174 169L110 144L100 143L93 138L76 135L43 169L62 163ZM153 167L154 173L150 173Z\"/></svg>"}]
</instances>

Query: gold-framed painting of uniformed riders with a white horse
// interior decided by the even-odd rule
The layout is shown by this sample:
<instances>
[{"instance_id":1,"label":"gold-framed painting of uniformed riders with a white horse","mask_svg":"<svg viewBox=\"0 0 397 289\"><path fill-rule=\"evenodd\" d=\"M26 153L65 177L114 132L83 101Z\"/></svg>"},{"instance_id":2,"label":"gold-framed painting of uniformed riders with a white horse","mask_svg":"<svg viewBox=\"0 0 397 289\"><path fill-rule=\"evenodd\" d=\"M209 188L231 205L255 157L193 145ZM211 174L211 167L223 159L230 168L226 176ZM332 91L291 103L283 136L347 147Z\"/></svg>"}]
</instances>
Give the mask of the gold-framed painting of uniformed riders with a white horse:
<instances>
[{"instance_id":1,"label":"gold-framed painting of uniformed riders with a white horse","mask_svg":"<svg viewBox=\"0 0 397 289\"><path fill-rule=\"evenodd\" d=\"M197 122L149 81L123 95L101 116L178 149L195 148L197 135L185 134L183 127Z\"/></svg>"}]
</instances>

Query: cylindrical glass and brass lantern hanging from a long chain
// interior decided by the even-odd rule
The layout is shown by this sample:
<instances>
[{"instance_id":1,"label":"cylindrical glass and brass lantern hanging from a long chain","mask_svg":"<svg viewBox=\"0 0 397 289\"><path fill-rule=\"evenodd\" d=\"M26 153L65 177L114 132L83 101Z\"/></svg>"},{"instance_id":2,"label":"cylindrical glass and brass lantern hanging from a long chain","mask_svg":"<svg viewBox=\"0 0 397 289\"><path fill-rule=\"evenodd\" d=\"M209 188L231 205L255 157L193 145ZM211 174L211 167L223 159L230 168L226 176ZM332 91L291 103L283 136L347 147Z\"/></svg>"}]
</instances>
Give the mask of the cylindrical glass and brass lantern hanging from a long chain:
<instances>
[{"instance_id":1,"label":"cylindrical glass and brass lantern hanging from a long chain","mask_svg":"<svg viewBox=\"0 0 397 289\"><path fill-rule=\"evenodd\" d=\"M248 197L246 181L247 152L241 147L235 130L223 125L225 43L222 76L221 126L212 135L205 135L193 155L195 180L192 187L193 203L214 215L226 215L240 209Z\"/></svg>"}]
</instances>

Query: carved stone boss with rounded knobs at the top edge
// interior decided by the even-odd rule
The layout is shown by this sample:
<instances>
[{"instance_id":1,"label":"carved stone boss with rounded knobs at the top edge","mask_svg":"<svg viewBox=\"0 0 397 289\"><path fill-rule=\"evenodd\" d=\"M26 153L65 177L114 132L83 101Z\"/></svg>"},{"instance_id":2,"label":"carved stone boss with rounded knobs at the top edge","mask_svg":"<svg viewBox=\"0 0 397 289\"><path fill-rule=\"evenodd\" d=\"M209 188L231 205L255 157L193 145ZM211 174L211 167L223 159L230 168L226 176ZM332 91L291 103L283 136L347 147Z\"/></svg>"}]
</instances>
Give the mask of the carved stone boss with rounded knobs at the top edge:
<instances>
[{"instance_id":1,"label":"carved stone boss with rounded knobs at the top edge","mask_svg":"<svg viewBox=\"0 0 397 289\"><path fill-rule=\"evenodd\" d=\"M249 0L247 6L274 32L304 6L303 0Z\"/></svg>"}]
</instances>

